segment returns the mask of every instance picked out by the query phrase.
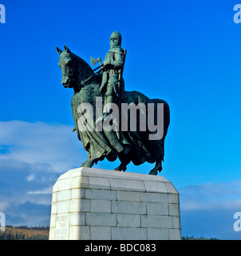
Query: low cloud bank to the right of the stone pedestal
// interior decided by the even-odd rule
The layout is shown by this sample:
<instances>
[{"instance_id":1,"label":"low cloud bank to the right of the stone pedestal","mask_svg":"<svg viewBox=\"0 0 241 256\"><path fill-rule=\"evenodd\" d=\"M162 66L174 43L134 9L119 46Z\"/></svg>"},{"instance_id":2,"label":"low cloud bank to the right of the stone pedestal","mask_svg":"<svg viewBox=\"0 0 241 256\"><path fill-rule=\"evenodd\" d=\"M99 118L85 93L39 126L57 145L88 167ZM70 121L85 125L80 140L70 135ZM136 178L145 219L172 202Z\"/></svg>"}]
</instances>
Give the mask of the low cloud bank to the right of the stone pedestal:
<instances>
[{"instance_id":1,"label":"low cloud bank to the right of the stone pedestal","mask_svg":"<svg viewBox=\"0 0 241 256\"><path fill-rule=\"evenodd\" d=\"M233 216L241 210L241 181L184 186L180 193L182 234L241 239Z\"/></svg>"}]
</instances>

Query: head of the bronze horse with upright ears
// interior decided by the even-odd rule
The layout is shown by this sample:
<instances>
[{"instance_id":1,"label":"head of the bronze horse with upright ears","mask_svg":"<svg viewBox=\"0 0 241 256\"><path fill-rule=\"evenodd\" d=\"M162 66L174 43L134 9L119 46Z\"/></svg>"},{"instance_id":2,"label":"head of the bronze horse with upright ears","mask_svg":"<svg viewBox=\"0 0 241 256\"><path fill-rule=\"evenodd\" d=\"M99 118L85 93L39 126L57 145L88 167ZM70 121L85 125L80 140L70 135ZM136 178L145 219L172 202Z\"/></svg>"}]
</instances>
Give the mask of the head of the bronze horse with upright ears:
<instances>
[{"instance_id":1,"label":"head of the bronze horse with upright ears","mask_svg":"<svg viewBox=\"0 0 241 256\"><path fill-rule=\"evenodd\" d=\"M65 88L80 90L81 83L93 74L93 70L82 58L73 54L67 46L65 46L65 51L57 47L57 52L59 54L58 65L62 70L62 85Z\"/></svg>"}]
</instances>

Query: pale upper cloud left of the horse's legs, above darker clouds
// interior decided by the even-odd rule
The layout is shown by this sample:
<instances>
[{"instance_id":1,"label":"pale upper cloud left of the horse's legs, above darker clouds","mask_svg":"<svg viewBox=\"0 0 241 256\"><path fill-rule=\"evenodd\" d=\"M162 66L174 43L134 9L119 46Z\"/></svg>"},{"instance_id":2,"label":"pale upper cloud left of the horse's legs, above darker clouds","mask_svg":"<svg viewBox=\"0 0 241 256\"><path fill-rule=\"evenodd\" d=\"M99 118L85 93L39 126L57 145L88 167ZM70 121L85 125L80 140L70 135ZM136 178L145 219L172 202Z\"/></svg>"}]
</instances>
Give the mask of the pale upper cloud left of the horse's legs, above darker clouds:
<instances>
[{"instance_id":1,"label":"pale upper cloud left of the horse's legs, above darker clouds","mask_svg":"<svg viewBox=\"0 0 241 256\"><path fill-rule=\"evenodd\" d=\"M46 163L60 173L81 166L85 153L72 129L71 126L44 122L0 122L0 145L7 147L0 159Z\"/></svg>"}]
</instances>

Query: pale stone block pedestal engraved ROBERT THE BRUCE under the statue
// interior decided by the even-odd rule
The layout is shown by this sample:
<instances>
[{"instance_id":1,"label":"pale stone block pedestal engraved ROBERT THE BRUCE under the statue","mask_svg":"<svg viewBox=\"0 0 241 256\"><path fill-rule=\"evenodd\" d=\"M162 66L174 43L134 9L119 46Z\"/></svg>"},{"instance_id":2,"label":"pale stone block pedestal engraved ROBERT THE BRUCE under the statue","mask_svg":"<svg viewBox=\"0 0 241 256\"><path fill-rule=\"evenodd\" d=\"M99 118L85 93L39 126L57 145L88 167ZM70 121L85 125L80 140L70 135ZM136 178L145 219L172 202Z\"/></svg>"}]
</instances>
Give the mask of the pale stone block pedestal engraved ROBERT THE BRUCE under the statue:
<instances>
[{"instance_id":1,"label":"pale stone block pedestal engraved ROBERT THE BRUCE under the statue","mask_svg":"<svg viewBox=\"0 0 241 256\"><path fill-rule=\"evenodd\" d=\"M69 170L53 186L49 239L181 239L179 194L161 176Z\"/></svg>"}]
</instances>

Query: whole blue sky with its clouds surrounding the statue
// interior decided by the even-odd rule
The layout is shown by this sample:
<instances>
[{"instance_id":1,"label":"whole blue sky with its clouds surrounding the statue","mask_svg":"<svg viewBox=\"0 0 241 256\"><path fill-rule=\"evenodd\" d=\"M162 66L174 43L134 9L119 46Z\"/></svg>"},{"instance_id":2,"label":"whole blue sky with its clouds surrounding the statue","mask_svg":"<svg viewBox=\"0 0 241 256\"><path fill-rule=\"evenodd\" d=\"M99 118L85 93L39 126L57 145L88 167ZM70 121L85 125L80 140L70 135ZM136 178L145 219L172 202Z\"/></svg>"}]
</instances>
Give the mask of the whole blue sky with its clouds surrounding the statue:
<instances>
[{"instance_id":1,"label":"whole blue sky with its clouds surrounding the statue","mask_svg":"<svg viewBox=\"0 0 241 256\"><path fill-rule=\"evenodd\" d=\"M180 192L182 234L240 239L241 23L238 0L13 1L0 23L0 211L9 225L49 225L51 190L85 161L72 134L56 46L105 58L118 30L126 90L171 109L164 170ZM90 63L89 63L90 64ZM118 162L99 162L113 169ZM148 174L151 164L128 166Z\"/></svg>"}]
</instances>

